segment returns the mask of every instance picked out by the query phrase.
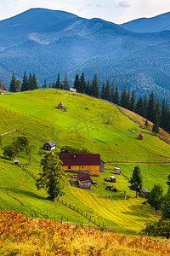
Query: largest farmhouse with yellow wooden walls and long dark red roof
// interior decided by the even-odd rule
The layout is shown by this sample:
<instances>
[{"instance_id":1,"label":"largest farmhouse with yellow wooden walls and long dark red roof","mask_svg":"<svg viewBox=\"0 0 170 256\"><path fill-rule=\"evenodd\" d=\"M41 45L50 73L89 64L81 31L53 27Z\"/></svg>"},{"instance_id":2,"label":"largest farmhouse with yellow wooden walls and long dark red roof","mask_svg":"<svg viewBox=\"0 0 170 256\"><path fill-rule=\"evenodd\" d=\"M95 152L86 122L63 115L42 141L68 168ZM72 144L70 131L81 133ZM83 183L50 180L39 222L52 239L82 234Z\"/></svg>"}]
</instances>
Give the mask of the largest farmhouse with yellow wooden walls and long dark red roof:
<instances>
[{"instance_id":1,"label":"largest farmhouse with yellow wooden walls and long dark red roof","mask_svg":"<svg viewBox=\"0 0 170 256\"><path fill-rule=\"evenodd\" d=\"M101 165L99 154L59 154L59 159L63 162L62 166L67 172L82 172L99 176Z\"/></svg>"}]
</instances>

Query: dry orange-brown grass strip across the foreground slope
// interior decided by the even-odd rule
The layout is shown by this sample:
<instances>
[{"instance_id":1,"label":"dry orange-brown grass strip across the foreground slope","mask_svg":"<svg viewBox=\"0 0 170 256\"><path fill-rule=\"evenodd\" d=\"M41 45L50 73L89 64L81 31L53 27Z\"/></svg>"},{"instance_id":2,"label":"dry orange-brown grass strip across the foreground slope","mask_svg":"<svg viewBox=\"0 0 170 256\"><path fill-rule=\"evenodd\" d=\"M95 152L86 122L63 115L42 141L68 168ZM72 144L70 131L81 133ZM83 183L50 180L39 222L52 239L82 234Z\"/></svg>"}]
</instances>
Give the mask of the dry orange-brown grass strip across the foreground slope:
<instances>
[{"instance_id":1,"label":"dry orange-brown grass strip across the foreground slope","mask_svg":"<svg viewBox=\"0 0 170 256\"><path fill-rule=\"evenodd\" d=\"M1 255L164 255L169 241L0 212Z\"/></svg>"}]
</instances>

